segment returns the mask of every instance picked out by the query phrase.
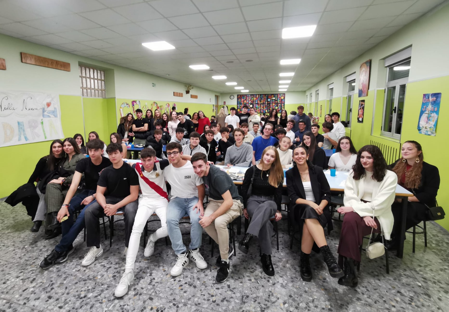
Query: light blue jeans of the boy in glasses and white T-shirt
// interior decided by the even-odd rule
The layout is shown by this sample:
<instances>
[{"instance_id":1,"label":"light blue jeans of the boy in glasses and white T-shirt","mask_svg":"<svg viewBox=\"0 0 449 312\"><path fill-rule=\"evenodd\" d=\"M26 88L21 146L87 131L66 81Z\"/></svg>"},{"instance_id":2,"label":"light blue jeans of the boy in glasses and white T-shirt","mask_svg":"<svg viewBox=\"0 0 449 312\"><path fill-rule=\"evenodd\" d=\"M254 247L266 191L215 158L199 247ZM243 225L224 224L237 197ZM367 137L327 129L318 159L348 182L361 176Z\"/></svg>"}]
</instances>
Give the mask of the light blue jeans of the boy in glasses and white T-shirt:
<instances>
[{"instance_id":1,"label":"light blue jeans of the boy in glasses and white T-shirt","mask_svg":"<svg viewBox=\"0 0 449 312\"><path fill-rule=\"evenodd\" d=\"M201 246L202 227L199 224L199 212L193 210L198 203L198 197L180 198L175 197L170 200L167 206L167 230L168 237L172 241L172 248L176 255L186 252L185 245L182 242L182 234L179 229L179 221L185 215L190 217L190 245L189 249L199 248Z\"/></svg>"}]
</instances>

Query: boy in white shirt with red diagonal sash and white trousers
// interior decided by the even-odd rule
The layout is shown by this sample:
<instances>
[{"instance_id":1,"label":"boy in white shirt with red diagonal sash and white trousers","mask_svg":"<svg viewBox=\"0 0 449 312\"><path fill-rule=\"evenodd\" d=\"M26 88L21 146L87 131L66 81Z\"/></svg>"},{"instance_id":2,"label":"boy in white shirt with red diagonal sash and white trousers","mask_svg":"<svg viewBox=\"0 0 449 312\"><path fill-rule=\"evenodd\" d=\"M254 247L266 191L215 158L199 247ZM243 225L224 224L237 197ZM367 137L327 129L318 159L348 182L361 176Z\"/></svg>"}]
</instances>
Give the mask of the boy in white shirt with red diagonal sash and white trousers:
<instances>
[{"instance_id":1,"label":"boy in white shirt with red diagonal sash and white trousers","mask_svg":"<svg viewBox=\"0 0 449 312\"><path fill-rule=\"evenodd\" d=\"M169 165L167 159L158 161L154 149L144 148L141 152L141 163L133 164L132 169L136 170L139 177L139 184L142 194L139 196L139 208L137 209L134 225L132 226L131 237L129 238L129 248L126 255L125 273L115 288L114 295L122 297L128 291L128 286L134 279L134 263L136 262L137 251L141 233L148 218L156 212L161 220L161 227L148 238L148 243L144 250L144 256L149 257L154 253L154 243L159 238L164 238L167 233L167 186L163 176L163 169Z\"/></svg>"}]
</instances>

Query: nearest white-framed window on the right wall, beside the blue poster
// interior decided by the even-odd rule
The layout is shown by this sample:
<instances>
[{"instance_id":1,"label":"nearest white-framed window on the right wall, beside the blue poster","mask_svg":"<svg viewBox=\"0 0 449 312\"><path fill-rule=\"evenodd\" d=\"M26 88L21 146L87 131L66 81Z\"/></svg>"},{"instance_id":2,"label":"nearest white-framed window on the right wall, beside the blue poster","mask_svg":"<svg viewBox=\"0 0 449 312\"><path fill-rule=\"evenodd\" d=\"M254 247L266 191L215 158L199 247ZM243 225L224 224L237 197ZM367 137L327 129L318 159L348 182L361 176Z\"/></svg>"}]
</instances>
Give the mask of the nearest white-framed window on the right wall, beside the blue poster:
<instances>
[{"instance_id":1,"label":"nearest white-framed window on the right wall, beside the blue poster","mask_svg":"<svg viewBox=\"0 0 449 312\"><path fill-rule=\"evenodd\" d=\"M409 80L411 48L405 49L385 60L387 83L383 104L381 134L401 138L404 116L405 90Z\"/></svg>"}]
</instances>

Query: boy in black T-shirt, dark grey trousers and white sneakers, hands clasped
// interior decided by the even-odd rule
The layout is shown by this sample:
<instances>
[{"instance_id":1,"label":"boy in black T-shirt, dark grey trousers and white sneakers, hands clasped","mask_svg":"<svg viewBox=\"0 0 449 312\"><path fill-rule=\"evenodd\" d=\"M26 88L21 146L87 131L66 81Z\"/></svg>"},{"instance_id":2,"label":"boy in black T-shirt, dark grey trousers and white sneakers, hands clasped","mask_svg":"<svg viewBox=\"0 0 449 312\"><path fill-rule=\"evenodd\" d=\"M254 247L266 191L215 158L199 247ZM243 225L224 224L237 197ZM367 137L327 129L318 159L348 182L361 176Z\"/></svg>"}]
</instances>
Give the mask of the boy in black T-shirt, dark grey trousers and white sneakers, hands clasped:
<instances>
[{"instance_id":1,"label":"boy in black T-shirt, dark grey trousers and white sneakers, hands clasped","mask_svg":"<svg viewBox=\"0 0 449 312\"><path fill-rule=\"evenodd\" d=\"M122 160L122 145L111 143L106 147L106 152L112 166L101 172L97 183L97 202L91 204L84 213L86 224L86 243L90 247L84 257L82 265L90 265L95 258L103 254L100 245L100 223L98 218L113 216L119 209L123 211L125 222L125 251L128 249L132 225L136 218L137 197L139 196L139 178L136 171Z\"/></svg>"}]
</instances>

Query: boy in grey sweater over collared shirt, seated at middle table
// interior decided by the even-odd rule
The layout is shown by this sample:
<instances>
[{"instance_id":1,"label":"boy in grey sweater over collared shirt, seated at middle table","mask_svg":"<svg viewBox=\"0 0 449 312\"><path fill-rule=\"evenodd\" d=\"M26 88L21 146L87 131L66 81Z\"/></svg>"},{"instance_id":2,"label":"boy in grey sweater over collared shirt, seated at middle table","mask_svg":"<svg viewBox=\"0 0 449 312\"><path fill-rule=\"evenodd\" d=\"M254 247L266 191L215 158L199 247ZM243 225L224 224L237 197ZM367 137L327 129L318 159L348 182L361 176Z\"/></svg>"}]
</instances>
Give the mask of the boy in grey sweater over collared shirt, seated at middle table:
<instances>
[{"instance_id":1,"label":"boy in grey sweater over collared shirt, seated at middle table","mask_svg":"<svg viewBox=\"0 0 449 312\"><path fill-rule=\"evenodd\" d=\"M235 144L228 147L225 156L225 165L249 167L252 163L252 146L243 142L245 132L237 128L234 130Z\"/></svg>"}]
</instances>

